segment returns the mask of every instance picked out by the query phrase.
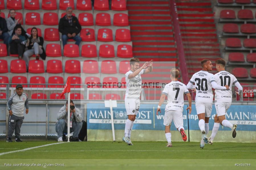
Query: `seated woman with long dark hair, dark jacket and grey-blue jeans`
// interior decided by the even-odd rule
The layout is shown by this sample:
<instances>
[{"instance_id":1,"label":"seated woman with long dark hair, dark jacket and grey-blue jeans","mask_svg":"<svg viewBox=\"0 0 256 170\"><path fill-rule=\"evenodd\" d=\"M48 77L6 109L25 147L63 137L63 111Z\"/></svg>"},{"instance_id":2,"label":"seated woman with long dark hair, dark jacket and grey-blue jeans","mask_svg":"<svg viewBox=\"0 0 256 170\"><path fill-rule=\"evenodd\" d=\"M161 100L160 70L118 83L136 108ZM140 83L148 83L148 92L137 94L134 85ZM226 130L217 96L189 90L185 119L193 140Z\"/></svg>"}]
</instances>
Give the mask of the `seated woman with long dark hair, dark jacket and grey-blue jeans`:
<instances>
[{"instance_id":1,"label":"seated woman with long dark hair, dark jacket and grey-blue jeans","mask_svg":"<svg viewBox=\"0 0 256 170\"><path fill-rule=\"evenodd\" d=\"M43 37L39 37L37 33L38 32L36 27L33 27L31 29L31 37L29 37L28 40L26 41L26 47L28 48L28 50L24 52L23 58L26 61L27 68L29 57L33 54L36 55L36 59L39 59L39 56L44 60L46 58L46 54L43 48L44 39Z\"/></svg>"}]
</instances>

